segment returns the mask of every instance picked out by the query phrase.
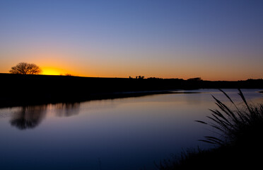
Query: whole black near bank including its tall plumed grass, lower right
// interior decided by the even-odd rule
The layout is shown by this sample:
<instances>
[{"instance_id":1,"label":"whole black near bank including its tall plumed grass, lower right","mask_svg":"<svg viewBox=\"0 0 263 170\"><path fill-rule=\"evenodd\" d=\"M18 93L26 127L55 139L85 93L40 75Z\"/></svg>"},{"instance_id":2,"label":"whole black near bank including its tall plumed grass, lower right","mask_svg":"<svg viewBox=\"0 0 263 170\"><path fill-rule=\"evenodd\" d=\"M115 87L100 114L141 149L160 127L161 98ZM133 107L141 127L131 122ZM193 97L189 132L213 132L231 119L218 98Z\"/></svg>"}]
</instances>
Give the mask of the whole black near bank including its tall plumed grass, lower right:
<instances>
[{"instance_id":1,"label":"whole black near bank including its tall plumed grass, lower right","mask_svg":"<svg viewBox=\"0 0 263 170\"><path fill-rule=\"evenodd\" d=\"M243 103L237 106L224 94L233 109L214 98L218 110L211 110L208 116L211 121L197 120L220 132L220 137L206 136L201 140L214 145L214 148L191 149L180 157L171 157L156 164L158 169L258 169L262 166L263 104L254 106L247 103L240 91Z\"/></svg>"}]
</instances>

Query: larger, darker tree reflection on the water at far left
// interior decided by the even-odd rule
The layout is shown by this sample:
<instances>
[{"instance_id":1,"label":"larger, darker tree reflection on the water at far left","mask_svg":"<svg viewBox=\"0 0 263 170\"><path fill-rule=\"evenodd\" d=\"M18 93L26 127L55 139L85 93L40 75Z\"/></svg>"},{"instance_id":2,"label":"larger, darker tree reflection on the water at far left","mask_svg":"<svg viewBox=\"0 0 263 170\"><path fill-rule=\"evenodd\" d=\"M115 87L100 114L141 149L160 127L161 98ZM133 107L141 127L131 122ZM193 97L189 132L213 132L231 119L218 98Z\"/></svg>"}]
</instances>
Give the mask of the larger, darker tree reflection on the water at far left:
<instances>
[{"instance_id":1,"label":"larger, darker tree reflection on the water at far left","mask_svg":"<svg viewBox=\"0 0 263 170\"><path fill-rule=\"evenodd\" d=\"M47 106L24 106L13 114L11 125L20 130L35 128L45 118Z\"/></svg>"}]
</instances>

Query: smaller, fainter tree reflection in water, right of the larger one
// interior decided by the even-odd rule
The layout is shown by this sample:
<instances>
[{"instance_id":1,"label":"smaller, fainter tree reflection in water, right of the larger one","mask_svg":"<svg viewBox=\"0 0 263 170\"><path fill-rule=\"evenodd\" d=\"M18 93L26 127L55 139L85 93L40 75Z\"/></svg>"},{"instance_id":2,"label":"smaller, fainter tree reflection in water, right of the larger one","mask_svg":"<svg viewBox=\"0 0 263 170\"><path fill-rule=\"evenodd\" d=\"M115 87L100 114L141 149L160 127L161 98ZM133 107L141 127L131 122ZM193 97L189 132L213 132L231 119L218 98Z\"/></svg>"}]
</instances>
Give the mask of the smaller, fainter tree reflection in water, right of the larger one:
<instances>
[{"instance_id":1,"label":"smaller, fainter tree reflection in water, right of the larger one","mask_svg":"<svg viewBox=\"0 0 263 170\"><path fill-rule=\"evenodd\" d=\"M69 117L71 115L77 115L80 106L80 103L59 103L55 106L57 108L56 115L60 117Z\"/></svg>"}]
</instances>

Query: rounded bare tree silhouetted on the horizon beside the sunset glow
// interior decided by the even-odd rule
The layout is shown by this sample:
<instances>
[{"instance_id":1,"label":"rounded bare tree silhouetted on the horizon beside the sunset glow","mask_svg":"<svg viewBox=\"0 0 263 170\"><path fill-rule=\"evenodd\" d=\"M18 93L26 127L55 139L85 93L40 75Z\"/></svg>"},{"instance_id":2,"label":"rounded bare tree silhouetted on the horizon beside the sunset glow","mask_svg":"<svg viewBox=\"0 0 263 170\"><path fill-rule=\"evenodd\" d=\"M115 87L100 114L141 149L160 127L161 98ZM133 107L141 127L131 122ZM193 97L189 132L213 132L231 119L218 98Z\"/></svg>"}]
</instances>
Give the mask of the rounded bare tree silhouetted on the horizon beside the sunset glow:
<instances>
[{"instance_id":1,"label":"rounded bare tree silhouetted on the horizon beside the sunset glow","mask_svg":"<svg viewBox=\"0 0 263 170\"><path fill-rule=\"evenodd\" d=\"M20 62L9 70L12 74L40 74L42 70L36 64Z\"/></svg>"}]
</instances>

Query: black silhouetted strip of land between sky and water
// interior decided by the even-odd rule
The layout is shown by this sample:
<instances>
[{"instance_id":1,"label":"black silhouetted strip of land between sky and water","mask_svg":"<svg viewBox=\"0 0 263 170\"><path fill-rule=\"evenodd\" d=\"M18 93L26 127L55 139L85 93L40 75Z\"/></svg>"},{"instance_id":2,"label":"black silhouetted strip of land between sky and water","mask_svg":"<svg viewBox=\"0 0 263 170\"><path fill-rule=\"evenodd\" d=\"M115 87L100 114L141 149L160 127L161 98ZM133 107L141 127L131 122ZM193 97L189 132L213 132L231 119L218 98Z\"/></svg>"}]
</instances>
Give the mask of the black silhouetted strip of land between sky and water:
<instances>
[{"instance_id":1,"label":"black silhouetted strip of land between sky and water","mask_svg":"<svg viewBox=\"0 0 263 170\"><path fill-rule=\"evenodd\" d=\"M0 74L0 107L165 94L179 89L263 89L263 79L131 79Z\"/></svg>"}]
</instances>

